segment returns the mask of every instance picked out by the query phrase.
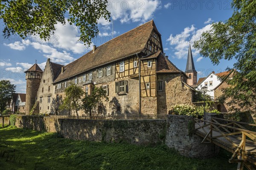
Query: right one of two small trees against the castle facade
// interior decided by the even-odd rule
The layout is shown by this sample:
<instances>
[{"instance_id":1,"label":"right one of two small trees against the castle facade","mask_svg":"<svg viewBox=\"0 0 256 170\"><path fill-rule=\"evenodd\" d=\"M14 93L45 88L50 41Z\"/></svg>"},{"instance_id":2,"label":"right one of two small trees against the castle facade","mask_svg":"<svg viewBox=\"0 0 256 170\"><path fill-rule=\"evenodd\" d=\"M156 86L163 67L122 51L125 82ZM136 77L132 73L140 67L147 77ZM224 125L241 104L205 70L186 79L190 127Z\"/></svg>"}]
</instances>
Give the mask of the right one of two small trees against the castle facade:
<instances>
[{"instance_id":1,"label":"right one of two small trees against the castle facade","mask_svg":"<svg viewBox=\"0 0 256 170\"><path fill-rule=\"evenodd\" d=\"M91 95L86 95L84 99L82 99L83 105L82 108L84 110L84 113L90 113L90 116L92 116L92 110L96 109L96 106L99 104L99 102L102 101L102 99L105 99L105 101L108 101L108 96L106 95L106 91L103 90L102 87L100 88L93 88Z\"/></svg>"}]
</instances>

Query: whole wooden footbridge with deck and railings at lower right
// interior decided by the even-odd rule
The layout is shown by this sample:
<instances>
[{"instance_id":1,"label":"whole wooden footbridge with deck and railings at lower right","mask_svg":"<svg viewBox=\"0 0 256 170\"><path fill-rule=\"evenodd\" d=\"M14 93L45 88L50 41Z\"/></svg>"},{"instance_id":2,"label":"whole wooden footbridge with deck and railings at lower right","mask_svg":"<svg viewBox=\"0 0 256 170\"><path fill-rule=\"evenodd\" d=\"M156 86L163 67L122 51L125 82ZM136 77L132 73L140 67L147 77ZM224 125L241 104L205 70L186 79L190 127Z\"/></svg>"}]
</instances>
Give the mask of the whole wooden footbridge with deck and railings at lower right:
<instances>
[{"instance_id":1,"label":"whole wooden footbridge with deck and railings at lower right","mask_svg":"<svg viewBox=\"0 0 256 170\"><path fill-rule=\"evenodd\" d=\"M195 133L202 143L214 143L233 153L230 163L238 163L237 170L256 170L256 125L226 119L211 121L194 119Z\"/></svg>"}]
</instances>

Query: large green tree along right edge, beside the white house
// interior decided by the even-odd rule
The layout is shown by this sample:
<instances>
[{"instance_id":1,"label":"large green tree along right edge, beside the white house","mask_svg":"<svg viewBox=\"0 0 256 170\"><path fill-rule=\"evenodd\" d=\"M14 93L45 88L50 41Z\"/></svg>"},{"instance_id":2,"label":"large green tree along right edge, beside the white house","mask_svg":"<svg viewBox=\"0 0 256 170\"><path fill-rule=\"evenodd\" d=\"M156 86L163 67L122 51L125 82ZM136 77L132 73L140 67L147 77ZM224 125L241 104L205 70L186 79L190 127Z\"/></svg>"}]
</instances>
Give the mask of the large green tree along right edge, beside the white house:
<instances>
[{"instance_id":1,"label":"large green tree along right edge, beside the white house","mask_svg":"<svg viewBox=\"0 0 256 170\"><path fill-rule=\"evenodd\" d=\"M241 109L256 108L256 1L233 0L233 15L225 22L212 24L194 47L209 57L213 64L221 59L236 59L232 79L225 79L230 88L224 90L222 101ZM224 77L222 77L224 79Z\"/></svg>"}]
</instances>

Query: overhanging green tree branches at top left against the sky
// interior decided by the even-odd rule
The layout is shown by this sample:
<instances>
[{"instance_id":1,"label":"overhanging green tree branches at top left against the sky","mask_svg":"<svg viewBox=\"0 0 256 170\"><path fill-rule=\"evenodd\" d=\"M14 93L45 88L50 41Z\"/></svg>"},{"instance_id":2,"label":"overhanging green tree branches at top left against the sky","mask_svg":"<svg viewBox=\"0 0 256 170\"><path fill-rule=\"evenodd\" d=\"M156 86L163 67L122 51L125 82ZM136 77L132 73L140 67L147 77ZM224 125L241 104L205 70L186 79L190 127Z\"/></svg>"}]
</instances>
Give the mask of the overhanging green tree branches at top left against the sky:
<instances>
[{"instance_id":1,"label":"overhanging green tree branches at top left against the sky","mask_svg":"<svg viewBox=\"0 0 256 170\"><path fill-rule=\"evenodd\" d=\"M3 19L5 37L18 34L23 39L30 35L40 35L49 40L54 34L55 24L65 25L66 17L70 25L80 29L80 39L90 45L98 33L100 18L109 20L107 0L2 0L0 19Z\"/></svg>"}]
</instances>

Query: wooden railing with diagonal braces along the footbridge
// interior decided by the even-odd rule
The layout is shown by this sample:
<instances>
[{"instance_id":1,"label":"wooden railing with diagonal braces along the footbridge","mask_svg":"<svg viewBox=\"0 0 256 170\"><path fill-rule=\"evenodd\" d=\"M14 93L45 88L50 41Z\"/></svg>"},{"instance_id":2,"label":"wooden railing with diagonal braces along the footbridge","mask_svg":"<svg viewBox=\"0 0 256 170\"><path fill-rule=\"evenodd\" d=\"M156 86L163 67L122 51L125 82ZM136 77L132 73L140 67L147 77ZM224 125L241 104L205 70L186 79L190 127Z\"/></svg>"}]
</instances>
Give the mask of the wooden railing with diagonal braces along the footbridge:
<instances>
[{"instance_id":1,"label":"wooden railing with diagonal braces along the footbridge","mask_svg":"<svg viewBox=\"0 0 256 170\"><path fill-rule=\"evenodd\" d=\"M255 124L236 122L220 118L211 118L211 122L201 119L194 119L194 121L195 125L198 126L195 128L195 130L201 129L206 134L202 141L203 143L207 143L205 142L207 139L210 142L213 142L214 139L219 139L224 143L228 142L227 144L231 144L233 148L236 148L236 150L233 152L232 157L229 159L229 162L238 162L240 168L245 165L248 169L251 169L248 163L246 163L246 160L250 159L251 156L255 157L256 150L246 150L246 146L256 146L256 132L247 130L247 128L245 128L244 126L246 125L256 127ZM222 124L218 121L221 121ZM217 131L218 133L215 133L215 135L213 135L214 131ZM232 138L229 138L229 136L232 136L233 139L239 139L239 141L241 142L239 144L236 144L232 140ZM239 159L236 159L237 156L239 157ZM252 161L253 164L256 165L255 159L252 159Z\"/></svg>"}]
</instances>

